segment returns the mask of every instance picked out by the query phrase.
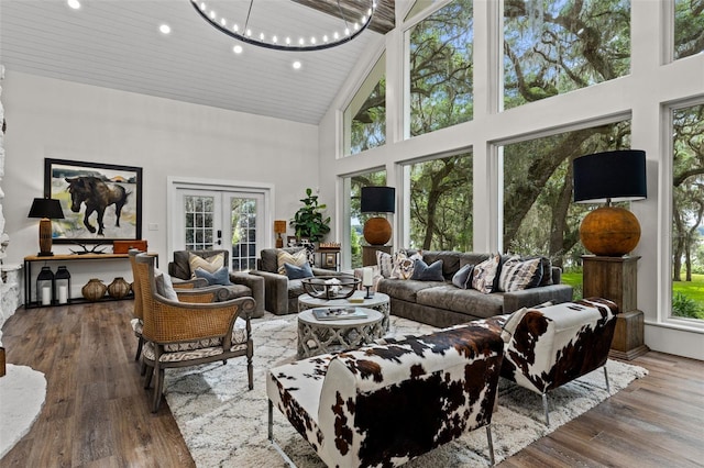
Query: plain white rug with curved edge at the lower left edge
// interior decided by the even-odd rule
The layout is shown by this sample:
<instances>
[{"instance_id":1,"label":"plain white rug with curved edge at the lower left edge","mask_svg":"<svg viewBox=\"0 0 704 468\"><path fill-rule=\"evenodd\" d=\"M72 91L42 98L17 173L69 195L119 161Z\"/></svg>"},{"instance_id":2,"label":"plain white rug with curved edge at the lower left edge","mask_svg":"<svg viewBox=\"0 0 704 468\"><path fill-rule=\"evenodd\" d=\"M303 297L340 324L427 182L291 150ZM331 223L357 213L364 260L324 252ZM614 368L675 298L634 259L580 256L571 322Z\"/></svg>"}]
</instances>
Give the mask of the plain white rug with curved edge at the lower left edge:
<instances>
[{"instance_id":1,"label":"plain white rug with curved edge at the lower left edge","mask_svg":"<svg viewBox=\"0 0 704 468\"><path fill-rule=\"evenodd\" d=\"M0 377L0 458L32 427L46 399L44 374L8 364Z\"/></svg>"}]
</instances>

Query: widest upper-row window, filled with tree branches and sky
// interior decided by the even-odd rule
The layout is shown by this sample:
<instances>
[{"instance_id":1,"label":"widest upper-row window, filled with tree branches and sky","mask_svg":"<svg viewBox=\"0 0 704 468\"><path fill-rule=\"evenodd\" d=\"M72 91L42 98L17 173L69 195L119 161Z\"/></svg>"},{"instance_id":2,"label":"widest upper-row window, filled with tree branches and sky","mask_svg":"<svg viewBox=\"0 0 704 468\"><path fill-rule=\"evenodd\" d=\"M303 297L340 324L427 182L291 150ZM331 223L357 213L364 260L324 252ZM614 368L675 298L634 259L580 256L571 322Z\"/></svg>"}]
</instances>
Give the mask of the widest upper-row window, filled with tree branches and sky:
<instances>
[{"instance_id":1,"label":"widest upper-row window, filled with tree branches and sky","mask_svg":"<svg viewBox=\"0 0 704 468\"><path fill-rule=\"evenodd\" d=\"M506 0L504 108L630 70L630 1Z\"/></svg>"}]
</instances>

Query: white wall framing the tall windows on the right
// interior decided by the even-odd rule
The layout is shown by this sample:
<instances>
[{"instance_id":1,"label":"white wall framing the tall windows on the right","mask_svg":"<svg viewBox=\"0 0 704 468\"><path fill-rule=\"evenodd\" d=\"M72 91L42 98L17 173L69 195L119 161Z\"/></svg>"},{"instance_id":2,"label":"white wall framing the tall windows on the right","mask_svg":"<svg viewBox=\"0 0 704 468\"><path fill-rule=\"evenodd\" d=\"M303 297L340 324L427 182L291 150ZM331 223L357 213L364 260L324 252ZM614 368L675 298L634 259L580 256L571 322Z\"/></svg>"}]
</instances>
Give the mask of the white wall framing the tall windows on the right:
<instances>
[{"instance_id":1,"label":"white wall framing the tall windows on the right","mask_svg":"<svg viewBox=\"0 0 704 468\"><path fill-rule=\"evenodd\" d=\"M632 203L631 210L642 227L640 244L632 253L640 255L638 265L638 307L645 313L646 344L652 349L704 359L704 327L684 327L669 323L669 230L670 203L664 196L671 186L669 160L670 135L666 124L669 105L688 100L704 99L704 54L671 63L664 57L668 41L668 13L663 3L631 2L631 73L628 76L595 85L566 94L532 102L506 112L495 112L492 89L496 88L491 51L497 34L497 2L474 2L474 116L472 121L437 132L404 140L403 33L393 31L386 36L387 143L360 155L341 157L334 135L341 132L340 113L364 78L365 69L376 60L376 48L370 47L365 63L348 80L344 92L320 123L321 191L338 193L338 209L342 209L340 180L342 177L386 168L388 185L402 189L400 167L416 158L471 148L474 160L474 249L497 250L501 227L498 171L495 147L503 142L530 140L546 133L592 126L600 120L631 119L631 147L645 149L648 158L648 199ZM402 19L397 18L397 24ZM403 27L403 25L400 26ZM497 62L501 64L501 59ZM337 176L332 177L332 176ZM397 199L403 199L397 193ZM482 202L477 202L481 200ZM397 207L403 212L403 207ZM399 216L395 218L393 244L403 246ZM338 220L338 229L342 220Z\"/></svg>"}]
</instances>

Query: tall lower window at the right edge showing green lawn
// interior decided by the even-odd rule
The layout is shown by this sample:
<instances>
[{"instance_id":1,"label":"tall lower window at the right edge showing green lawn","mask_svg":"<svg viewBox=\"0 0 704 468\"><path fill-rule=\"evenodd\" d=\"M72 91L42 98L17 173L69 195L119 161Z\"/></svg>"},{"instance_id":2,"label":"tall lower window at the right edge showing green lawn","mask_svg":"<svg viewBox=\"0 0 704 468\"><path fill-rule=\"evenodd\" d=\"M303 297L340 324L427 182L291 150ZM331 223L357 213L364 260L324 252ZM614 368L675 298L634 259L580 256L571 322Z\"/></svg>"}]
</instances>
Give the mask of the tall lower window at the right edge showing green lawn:
<instances>
[{"instance_id":1,"label":"tall lower window at the right edge showing green lawn","mask_svg":"<svg viewBox=\"0 0 704 468\"><path fill-rule=\"evenodd\" d=\"M672 125L672 315L704 320L704 104Z\"/></svg>"}]
</instances>

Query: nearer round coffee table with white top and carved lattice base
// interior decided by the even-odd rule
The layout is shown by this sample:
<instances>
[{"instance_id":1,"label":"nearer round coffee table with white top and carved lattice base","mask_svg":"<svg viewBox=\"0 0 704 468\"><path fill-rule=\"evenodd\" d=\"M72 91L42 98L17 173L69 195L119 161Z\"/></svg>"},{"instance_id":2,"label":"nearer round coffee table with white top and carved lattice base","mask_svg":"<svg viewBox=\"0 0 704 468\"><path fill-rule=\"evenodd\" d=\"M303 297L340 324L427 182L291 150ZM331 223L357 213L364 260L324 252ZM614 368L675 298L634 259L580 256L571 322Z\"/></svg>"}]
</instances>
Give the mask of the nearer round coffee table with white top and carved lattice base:
<instances>
[{"instance_id":1,"label":"nearer round coffee table with white top and carved lattice base","mask_svg":"<svg viewBox=\"0 0 704 468\"><path fill-rule=\"evenodd\" d=\"M321 308L318 308L321 309ZM326 308L327 309L327 308ZM360 347L384 335L384 315L374 309L356 308L362 319L318 320L312 309L298 314L298 358Z\"/></svg>"}]
</instances>

